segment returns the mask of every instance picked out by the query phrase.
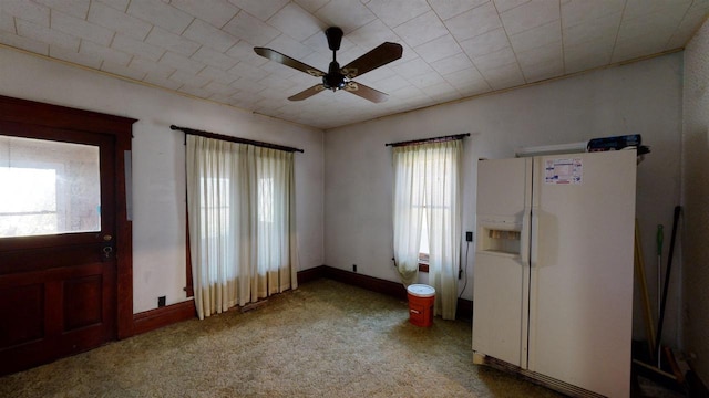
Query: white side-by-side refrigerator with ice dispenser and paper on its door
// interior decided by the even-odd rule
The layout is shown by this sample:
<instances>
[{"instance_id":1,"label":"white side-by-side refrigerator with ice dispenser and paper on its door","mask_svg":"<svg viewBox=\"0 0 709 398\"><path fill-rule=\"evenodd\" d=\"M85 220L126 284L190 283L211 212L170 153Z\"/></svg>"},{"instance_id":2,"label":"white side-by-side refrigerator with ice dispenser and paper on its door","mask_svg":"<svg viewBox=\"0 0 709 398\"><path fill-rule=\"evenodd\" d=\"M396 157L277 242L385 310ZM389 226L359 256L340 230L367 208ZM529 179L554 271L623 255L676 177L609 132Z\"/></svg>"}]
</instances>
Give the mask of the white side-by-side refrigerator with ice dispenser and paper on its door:
<instances>
[{"instance_id":1,"label":"white side-by-side refrigerator with ice dispenser and paper on its door","mask_svg":"<svg viewBox=\"0 0 709 398\"><path fill-rule=\"evenodd\" d=\"M475 363L628 397L636 150L477 164Z\"/></svg>"}]
</instances>

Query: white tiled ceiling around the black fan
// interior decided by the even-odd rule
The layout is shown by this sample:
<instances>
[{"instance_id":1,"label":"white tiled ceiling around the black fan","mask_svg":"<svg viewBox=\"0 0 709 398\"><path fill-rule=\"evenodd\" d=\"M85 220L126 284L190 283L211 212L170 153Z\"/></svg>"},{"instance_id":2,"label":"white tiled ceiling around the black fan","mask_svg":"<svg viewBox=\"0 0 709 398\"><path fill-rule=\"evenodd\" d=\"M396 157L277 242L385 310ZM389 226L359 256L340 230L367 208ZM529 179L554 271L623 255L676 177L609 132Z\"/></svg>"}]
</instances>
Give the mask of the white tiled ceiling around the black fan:
<instances>
[{"instance_id":1,"label":"white tiled ceiling around the black fan","mask_svg":"<svg viewBox=\"0 0 709 398\"><path fill-rule=\"evenodd\" d=\"M709 0L0 0L0 43L201 98L331 128L684 48ZM389 94L287 97L382 42L403 56L356 78Z\"/></svg>"}]
</instances>

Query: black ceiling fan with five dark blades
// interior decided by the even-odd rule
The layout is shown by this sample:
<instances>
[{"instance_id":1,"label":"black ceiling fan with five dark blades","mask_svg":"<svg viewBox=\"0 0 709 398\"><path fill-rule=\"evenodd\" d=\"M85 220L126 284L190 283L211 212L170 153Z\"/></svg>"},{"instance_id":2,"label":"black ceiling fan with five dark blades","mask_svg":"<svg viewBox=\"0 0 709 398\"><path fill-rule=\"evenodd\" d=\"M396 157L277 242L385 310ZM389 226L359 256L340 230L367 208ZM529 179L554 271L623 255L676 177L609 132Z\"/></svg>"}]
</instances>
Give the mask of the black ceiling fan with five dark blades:
<instances>
[{"instance_id":1,"label":"black ceiling fan with five dark blades","mask_svg":"<svg viewBox=\"0 0 709 398\"><path fill-rule=\"evenodd\" d=\"M386 101L388 96L387 94L368 87L361 83L357 83L352 81L352 78L361 76L364 73L379 66L383 66L392 61L399 60L403 53L401 44L384 42L367 54L340 67L340 64L337 62L336 53L340 49L340 43L342 42L342 30L337 27L331 27L325 31L325 35L328 38L328 46L332 50L332 62L330 62L327 73L271 49L254 48L254 51L260 56L281 63L286 66L297 69L298 71L305 72L311 76L322 77L322 83L316 84L310 88L306 88L300 93L288 97L290 101L306 100L325 90L332 90L333 92L345 90L374 103Z\"/></svg>"}]
</instances>

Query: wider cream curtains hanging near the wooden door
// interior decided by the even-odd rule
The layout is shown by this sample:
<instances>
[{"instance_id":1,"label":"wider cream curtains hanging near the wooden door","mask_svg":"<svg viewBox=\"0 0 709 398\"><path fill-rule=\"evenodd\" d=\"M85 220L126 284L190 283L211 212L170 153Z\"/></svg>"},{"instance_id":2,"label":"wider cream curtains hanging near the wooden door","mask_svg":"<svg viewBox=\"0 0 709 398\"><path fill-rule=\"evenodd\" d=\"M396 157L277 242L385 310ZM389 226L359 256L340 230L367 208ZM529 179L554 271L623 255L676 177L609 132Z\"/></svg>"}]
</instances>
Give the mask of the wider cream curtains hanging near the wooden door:
<instances>
[{"instance_id":1,"label":"wider cream curtains hanging near the wooden door","mask_svg":"<svg viewBox=\"0 0 709 398\"><path fill-rule=\"evenodd\" d=\"M199 318L297 287L294 154L187 136Z\"/></svg>"}]
</instances>

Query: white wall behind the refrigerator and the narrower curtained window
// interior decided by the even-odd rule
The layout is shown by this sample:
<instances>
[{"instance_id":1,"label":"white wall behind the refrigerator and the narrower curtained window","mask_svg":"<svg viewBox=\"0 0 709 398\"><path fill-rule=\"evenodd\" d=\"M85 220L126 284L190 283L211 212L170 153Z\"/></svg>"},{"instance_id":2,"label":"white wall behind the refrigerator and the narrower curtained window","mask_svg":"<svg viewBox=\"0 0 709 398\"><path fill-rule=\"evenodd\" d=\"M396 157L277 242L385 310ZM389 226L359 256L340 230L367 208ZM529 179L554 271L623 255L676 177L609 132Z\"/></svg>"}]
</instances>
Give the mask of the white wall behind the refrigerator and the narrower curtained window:
<instances>
[{"instance_id":1,"label":"white wall behind the refrigerator and the narrower curtained window","mask_svg":"<svg viewBox=\"0 0 709 398\"><path fill-rule=\"evenodd\" d=\"M513 157L525 146L586 142L594 137L641 134L651 147L638 168L637 217L651 302L656 290L655 231L671 230L680 198L681 54L530 86L456 104L412 112L326 132L325 261L399 281L392 258L392 166L386 143L472 133L465 138L463 229L474 231L476 160ZM464 237L464 234L463 234ZM464 239L464 238L463 238ZM462 242L462 253L465 243ZM472 300L474 248L469 254ZM664 260L665 262L666 260ZM679 269L679 264L677 264ZM633 264L628 264L633 266ZM668 303L666 341L678 346L678 279ZM461 281L461 289L464 281ZM636 289L637 291L637 289ZM634 328L645 329L636 293Z\"/></svg>"}]
</instances>

